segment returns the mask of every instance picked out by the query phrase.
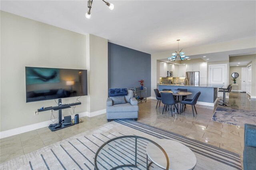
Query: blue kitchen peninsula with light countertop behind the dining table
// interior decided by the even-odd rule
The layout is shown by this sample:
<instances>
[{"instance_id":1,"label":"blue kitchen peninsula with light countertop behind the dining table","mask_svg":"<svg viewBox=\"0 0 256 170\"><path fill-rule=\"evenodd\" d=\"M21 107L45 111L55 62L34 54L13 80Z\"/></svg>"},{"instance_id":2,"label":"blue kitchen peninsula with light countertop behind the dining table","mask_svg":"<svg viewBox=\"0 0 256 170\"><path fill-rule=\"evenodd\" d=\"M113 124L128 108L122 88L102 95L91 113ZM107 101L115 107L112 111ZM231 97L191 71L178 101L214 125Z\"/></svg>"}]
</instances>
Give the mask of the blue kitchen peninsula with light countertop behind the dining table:
<instances>
[{"instance_id":1,"label":"blue kitchen peninsula with light countertop behind the dining table","mask_svg":"<svg viewBox=\"0 0 256 170\"><path fill-rule=\"evenodd\" d=\"M193 99L193 97L201 92L200 97L198 98L198 105L206 105L206 106L214 106L218 101L217 93L218 88L222 88L222 85L173 85L173 84L158 84L158 90L162 91L162 89L188 89L188 92L191 92L192 95L188 95L187 99Z\"/></svg>"}]
</instances>

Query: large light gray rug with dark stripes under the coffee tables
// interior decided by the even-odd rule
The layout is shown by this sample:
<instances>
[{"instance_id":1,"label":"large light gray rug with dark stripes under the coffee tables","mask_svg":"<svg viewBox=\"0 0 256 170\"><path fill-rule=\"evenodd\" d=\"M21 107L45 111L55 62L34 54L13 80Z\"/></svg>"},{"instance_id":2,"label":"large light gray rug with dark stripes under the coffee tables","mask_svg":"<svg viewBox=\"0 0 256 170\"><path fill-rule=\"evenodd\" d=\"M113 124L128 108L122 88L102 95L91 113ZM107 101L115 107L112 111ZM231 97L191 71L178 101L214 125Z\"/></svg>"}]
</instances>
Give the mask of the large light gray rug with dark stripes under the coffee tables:
<instances>
[{"instance_id":1,"label":"large light gray rug with dark stripes under the coffee tables","mask_svg":"<svg viewBox=\"0 0 256 170\"><path fill-rule=\"evenodd\" d=\"M93 170L94 156L99 146L110 138L123 135L142 136L150 140L165 138L185 144L196 156L195 170L241 170L239 154L129 119L112 121L101 127L20 156L1 164L0 169ZM146 144L146 141L138 140L138 167L121 169L146 169ZM125 138L111 142L110 146L97 159L100 170L111 169L122 164L134 164L134 148L134 139ZM182 158L180 159L182 160ZM152 164L150 169L160 168Z\"/></svg>"}]
</instances>

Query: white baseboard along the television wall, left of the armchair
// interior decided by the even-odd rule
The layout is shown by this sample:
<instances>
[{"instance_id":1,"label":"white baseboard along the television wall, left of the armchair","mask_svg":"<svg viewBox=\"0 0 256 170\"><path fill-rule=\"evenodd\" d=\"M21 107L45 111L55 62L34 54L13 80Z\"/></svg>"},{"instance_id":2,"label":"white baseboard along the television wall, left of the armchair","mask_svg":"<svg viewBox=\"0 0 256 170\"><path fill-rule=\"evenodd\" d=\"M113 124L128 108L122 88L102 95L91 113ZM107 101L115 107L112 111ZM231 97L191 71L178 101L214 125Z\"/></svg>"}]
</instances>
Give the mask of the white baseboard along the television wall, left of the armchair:
<instances>
[{"instance_id":1,"label":"white baseboard along the television wall, left of the armchair","mask_svg":"<svg viewBox=\"0 0 256 170\"><path fill-rule=\"evenodd\" d=\"M78 115L79 115L79 117L85 117L85 116L93 117L93 116L101 115L103 113L106 113L106 109L103 109L101 111L95 111L92 113L82 112L82 113L78 113ZM75 115L71 115L72 119L74 119L74 116ZM64 119L64 118L62 117L62 119ZM54 119L52 121L54 121ZM32 125L27 125L24 127L18 127L18 128L14 128L14 129L10 129L10 130L5 130L5 131L0 132L0 138L6 138L8 136L21 134L21 133L28 132L31 130L36 130L38 128L48 127L50 124L52 124L52 121L44 121L44 122L35 123Z\"/></svg>"}]
</instances>

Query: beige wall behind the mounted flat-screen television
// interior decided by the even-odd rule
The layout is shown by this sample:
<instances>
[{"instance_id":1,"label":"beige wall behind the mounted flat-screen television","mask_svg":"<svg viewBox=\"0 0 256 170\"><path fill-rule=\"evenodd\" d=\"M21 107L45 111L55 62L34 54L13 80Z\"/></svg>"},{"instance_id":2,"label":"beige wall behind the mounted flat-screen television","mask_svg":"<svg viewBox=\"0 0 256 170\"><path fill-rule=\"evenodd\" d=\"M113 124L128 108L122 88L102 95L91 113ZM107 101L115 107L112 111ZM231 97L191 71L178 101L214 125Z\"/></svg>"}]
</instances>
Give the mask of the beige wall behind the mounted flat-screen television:
<instances>
[{"instance_id":1,"label":"beige wall behind the mounted flat-screen television","mask_svg":"<svg viewBox=\"0 0 256 170\"><path fill-rule=\"evenodd\" d=\"M49 121L50 111L34 111L56 105L54 100L26 103L25 66L86 69L86 36L2 11L0 19L0 131ZM76 97L63 99L75 101ZM80 101L75 113L87 111L87 96ZM68 111L72 113L66 109L62 115Z\"/></svg>"}]
</instances>

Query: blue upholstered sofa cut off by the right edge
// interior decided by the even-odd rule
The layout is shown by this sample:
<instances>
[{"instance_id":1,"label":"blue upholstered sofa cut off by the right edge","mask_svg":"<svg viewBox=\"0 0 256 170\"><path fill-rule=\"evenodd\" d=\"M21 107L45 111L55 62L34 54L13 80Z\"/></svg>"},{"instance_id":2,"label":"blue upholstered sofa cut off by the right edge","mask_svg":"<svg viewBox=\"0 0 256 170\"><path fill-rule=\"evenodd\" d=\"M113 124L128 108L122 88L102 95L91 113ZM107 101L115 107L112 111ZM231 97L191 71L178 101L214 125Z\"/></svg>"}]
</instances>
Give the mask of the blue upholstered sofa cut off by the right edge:
<instances>
[{"instance_id":1,"label":"blue upholstered sofa cut off by the right edge","mask_svg":"<svg viewBox=\"0 0 256 170\"><path fill-rule=\"evenodd\" d=\"M256 125L244 125L244 170L256 170Z\"/></svg>"}]
</instances>

